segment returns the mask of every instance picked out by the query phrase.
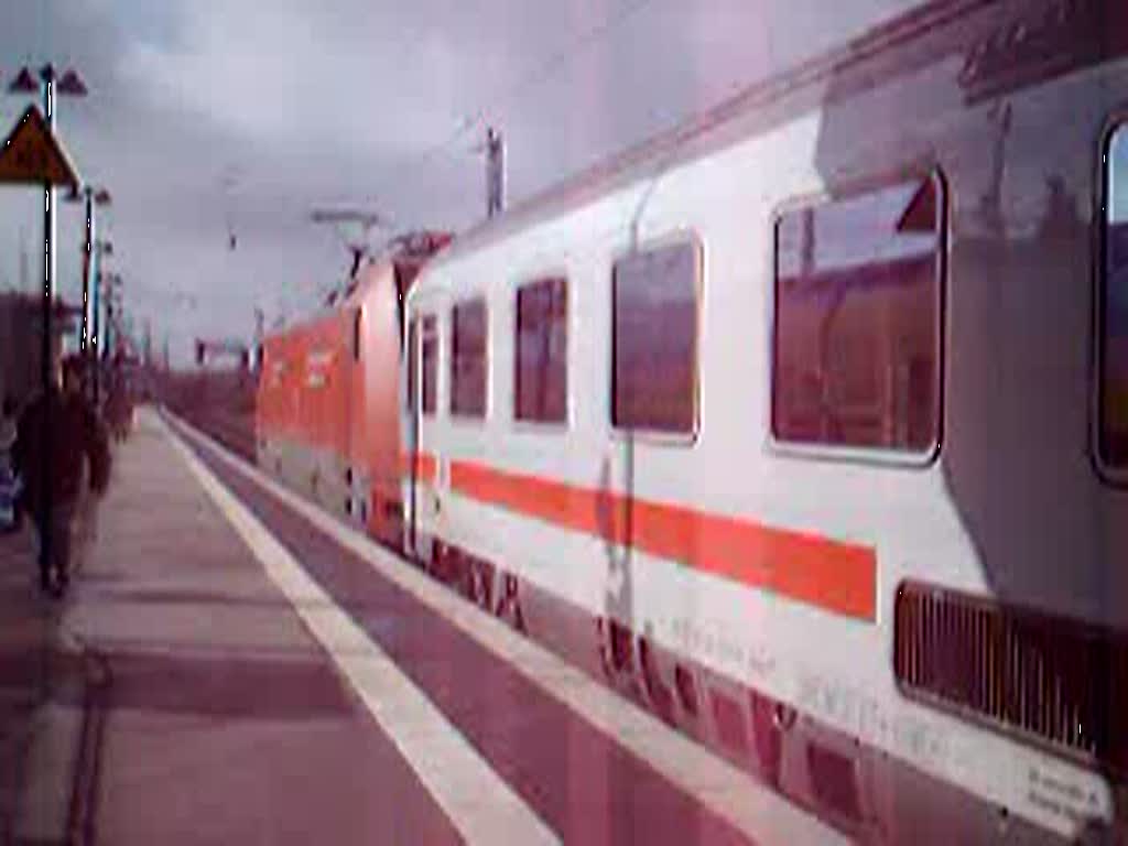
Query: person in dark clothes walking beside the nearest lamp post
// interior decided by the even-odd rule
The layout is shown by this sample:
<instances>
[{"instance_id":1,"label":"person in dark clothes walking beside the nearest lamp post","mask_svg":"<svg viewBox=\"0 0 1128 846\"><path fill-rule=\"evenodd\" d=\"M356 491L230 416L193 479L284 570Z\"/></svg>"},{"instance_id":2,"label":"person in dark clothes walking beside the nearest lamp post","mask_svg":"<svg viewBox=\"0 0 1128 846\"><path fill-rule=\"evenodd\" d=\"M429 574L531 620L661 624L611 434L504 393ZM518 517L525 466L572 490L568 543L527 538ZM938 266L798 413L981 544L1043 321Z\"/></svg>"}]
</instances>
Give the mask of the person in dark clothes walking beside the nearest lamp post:
<instances>
[{"instance_id":1,"label":"person in dark clothes walking beside the nearest lamp post","mask_svg":"<svg viewBox=\"0 0 1128 846\"><path fill-rule=\"evenodd\" d=\"M61 385L60 382L61 377ZM104 426L80 388L81 362L70 358L46 394L19 417L16 468L24 502L39 537L39 584L62 596L70 579L74 515L82 493L83 464L89 484L102 494L109 481L109 444Z\"/></svg>"}]
</instances>

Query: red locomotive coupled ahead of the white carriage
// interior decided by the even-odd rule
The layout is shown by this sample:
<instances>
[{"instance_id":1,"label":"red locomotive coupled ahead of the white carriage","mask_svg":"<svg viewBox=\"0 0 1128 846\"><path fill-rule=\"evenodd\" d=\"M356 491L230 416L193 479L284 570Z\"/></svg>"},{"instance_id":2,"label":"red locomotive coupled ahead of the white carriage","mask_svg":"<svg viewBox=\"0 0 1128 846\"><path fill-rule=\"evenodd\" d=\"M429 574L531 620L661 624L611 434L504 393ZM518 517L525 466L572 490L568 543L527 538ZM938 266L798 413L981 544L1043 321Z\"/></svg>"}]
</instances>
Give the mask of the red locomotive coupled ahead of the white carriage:
<instances>
[{"instance_id":1,"label":"red locomotive coupled ahead of the white carriage","mask_svg":"<svg viewBox=\"0 0 1128 846\"><path fill-rule=\"evenodd\" d=\"M331 511L400 543L398 378L403 308L449 244L420 232L362 266L335 307L263 343L258 461Z\"/></svg>"}]
</instances>

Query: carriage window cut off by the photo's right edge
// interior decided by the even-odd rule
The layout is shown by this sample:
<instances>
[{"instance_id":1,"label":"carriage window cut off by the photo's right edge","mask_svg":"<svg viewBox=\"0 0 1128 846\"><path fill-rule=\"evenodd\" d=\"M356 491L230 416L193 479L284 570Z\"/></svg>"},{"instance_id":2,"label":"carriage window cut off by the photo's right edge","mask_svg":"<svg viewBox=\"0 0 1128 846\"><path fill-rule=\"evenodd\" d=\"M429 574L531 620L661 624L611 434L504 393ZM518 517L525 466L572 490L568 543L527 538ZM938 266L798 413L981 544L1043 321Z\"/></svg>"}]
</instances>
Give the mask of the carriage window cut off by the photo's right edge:
<instances>
[{"instance_id":1,"label":"carriage window cut off by the photo's right edge","mask_svg":"<svg viewBox=\"0 0 1128 846\"><path fill-rule=\"evenodd\" d=\"M1101 459L1128 468L1128 125L1112 133L1108 150L1108 227L1101 333Z\"/></svg>"}]
</instances>

